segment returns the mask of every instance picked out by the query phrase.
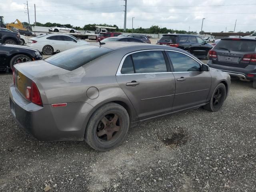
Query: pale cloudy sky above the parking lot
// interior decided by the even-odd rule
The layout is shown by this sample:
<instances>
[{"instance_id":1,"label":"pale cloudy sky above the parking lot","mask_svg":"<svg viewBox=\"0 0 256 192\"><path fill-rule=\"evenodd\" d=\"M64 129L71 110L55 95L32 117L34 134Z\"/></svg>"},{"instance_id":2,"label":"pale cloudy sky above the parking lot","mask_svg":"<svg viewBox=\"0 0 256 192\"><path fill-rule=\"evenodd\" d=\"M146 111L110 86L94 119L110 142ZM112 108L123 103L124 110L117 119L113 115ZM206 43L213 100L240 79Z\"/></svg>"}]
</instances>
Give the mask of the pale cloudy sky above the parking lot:
<instances>
[{"instance_id":1,"label":"pale cloudy sky above the parking lot","mask_svg":"<svg viewBox=\"0 0 256 192\"><path fill-rule=\"evenodd\" d=\"M5 22L13 22L16 18L28 22L24 3L26 0L0 0L0 15ZM34 4L36 20L40 23L70 23L81 27L106 23L124 27L124 0L28 0L31 24L35 20ZM188 31L190 28L197 32L201 30L202 18L206 18L203 25L206 32L233 31L237 19L236 32L246 32L256 30L256 1L127 0L127 28L132 28L132 17L135 17L134 28L158 25L174 30Z\"/></svg>"}]
</instances>

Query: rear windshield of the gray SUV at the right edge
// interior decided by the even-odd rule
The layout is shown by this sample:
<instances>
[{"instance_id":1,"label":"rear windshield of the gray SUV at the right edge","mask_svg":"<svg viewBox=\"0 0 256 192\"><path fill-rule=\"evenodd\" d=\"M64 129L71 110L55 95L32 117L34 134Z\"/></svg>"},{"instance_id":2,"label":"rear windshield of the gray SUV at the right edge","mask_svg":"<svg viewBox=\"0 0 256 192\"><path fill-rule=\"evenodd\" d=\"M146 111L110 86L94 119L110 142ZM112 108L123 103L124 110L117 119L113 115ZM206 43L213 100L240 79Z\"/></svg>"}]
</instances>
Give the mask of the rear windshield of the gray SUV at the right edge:
<instances>
[{"instance_id":1,"label":"rear windshield of the gray SUV at the right edge","mask_svg":"<svg viewBox=\"0 0 256 192\"><path fill-rule=\"evenodd\" d=\"M254 52L256 48L256 41L248 40L220 40L214 49L218 50L229 50L236 52Z\"/></svg>"}]
</instances>

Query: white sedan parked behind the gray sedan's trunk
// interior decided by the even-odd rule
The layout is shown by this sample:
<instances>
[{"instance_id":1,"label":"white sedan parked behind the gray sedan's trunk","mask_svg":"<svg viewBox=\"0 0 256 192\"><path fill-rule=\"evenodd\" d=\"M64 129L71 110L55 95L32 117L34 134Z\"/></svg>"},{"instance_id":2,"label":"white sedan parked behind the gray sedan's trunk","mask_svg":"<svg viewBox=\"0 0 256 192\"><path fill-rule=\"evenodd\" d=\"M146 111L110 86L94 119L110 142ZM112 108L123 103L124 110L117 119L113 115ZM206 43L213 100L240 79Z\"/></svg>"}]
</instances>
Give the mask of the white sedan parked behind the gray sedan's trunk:
<instances>
[{"instance_id":1,"label":"white sedan parked behind the gray sedan's trunk","mask_svg":"<svg viewBox=\"0 0 256 192\"><path fill-rule=\"evenodd\" d=\"M54 52L86 44L90 43L69 34L47 34L29 39L27 46L40 50L44 55L52 55Z\"/></svg>"}]
</instances>

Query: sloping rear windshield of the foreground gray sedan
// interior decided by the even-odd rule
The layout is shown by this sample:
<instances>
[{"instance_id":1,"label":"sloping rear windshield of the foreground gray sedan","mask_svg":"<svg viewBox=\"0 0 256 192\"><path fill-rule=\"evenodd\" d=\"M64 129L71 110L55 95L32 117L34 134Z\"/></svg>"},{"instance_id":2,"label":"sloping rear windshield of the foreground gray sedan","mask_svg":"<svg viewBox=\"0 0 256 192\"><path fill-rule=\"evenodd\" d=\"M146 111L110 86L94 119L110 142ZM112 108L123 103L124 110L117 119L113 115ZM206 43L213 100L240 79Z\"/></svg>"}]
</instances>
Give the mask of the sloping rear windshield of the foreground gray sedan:
<instances>
[{"instance_id":1,"label":"sloping rear windshield of the foreground gray sedan","mask_svg":"<svg viewBox=\"0 0 256 192\"><path fill-rule=\"evenodd\" d=\"M45 59L45 61L60 68L72 71L112 51L112 49L100 46L84 45L57 53Z\"/></svg>"}]
</instances>

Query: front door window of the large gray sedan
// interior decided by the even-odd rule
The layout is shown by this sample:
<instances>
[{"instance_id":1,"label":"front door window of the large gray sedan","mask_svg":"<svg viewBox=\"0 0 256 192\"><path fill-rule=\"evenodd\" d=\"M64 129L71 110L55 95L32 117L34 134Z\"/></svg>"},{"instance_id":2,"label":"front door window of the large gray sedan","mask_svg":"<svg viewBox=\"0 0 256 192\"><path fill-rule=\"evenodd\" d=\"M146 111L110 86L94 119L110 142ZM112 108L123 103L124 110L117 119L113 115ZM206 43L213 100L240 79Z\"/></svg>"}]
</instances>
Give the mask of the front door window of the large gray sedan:
<instances>
[{"instance_id":1,"label":"front door window of the large gray sedan","mask_svg":"<svg viewBox=\"0 0 256 192\"><path fill-rule=\"evenodd\" d=\"M201 71L200 64L189 56L173 51L167 51L167 54L172 61L174 72Z\"/></svg>"}]
</instances>

